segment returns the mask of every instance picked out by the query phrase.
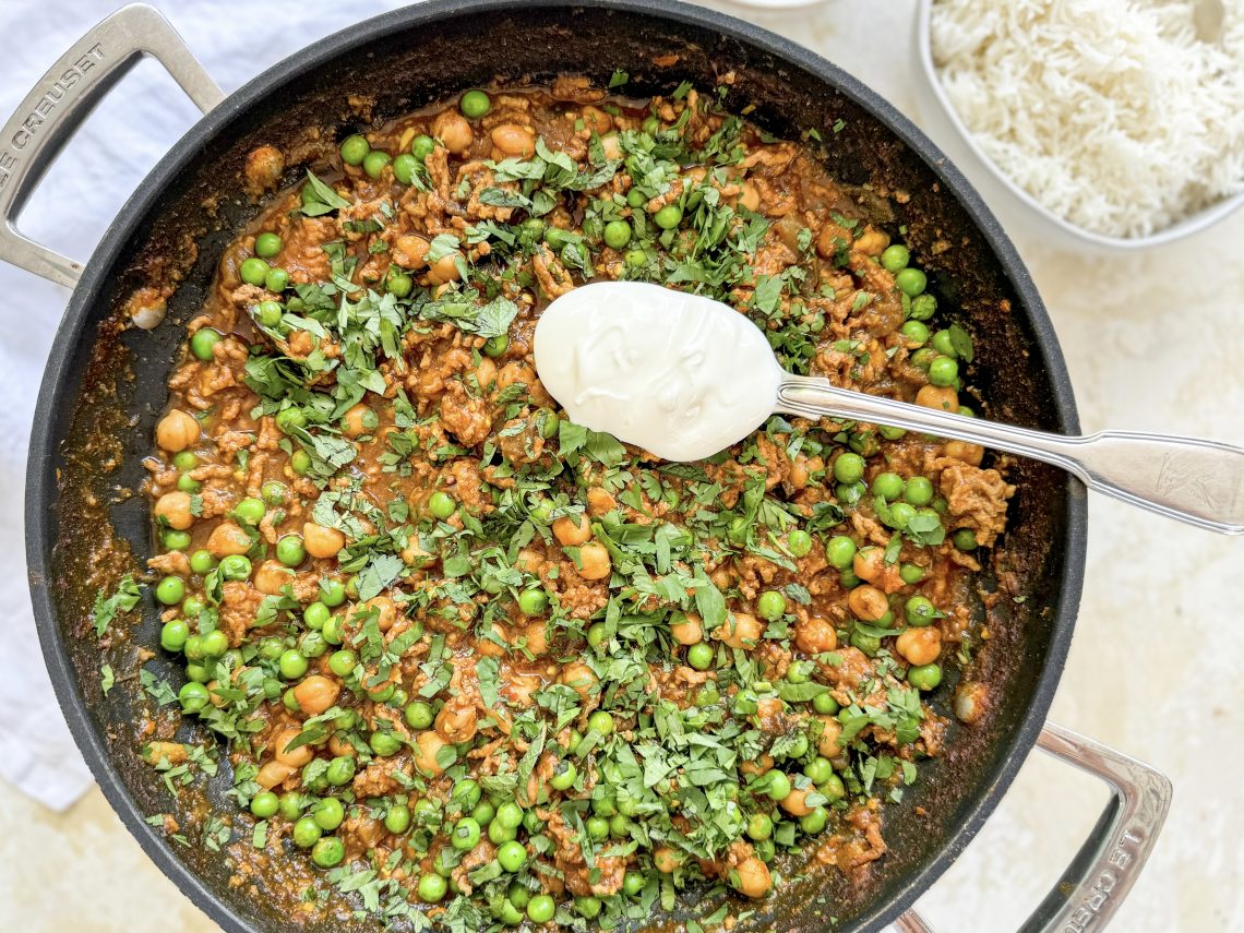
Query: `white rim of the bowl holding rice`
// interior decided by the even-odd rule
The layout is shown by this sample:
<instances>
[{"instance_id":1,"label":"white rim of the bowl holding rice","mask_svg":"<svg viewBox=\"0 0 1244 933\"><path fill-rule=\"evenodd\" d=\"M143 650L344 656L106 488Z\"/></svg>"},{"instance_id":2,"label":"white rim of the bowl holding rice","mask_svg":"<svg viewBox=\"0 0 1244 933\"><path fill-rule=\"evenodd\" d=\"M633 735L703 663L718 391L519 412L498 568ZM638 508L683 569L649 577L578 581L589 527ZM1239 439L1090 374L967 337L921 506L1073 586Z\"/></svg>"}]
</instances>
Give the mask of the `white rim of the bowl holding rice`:
<instances>
[{"instance_id":1,"label":"white rim of the bowl holding rice","mask_svg":"<svg viewBox=\"0 0 1244 933\"><path fill-rule=\"evenodd\" d=\"M1164 226L1157 233L1152 233L1146 236L1111 236L1110 234L1096 233L1080 226L1079 224L1074 224L1061 214L1055 213L1023 188L1001 168L1001 165L998 164L991 156L989 156L989 153L984 151L977 141L977 134L968 128L963 117L959 116L959 111L950 102L950 98L945 92L945 87L942 83L942 78L938 76L937 65L933 61L933 2L934 0L917 0L916 10L916 53L929 91L937 100L938 106L942 108L947 119L950 122L950 126L959 134L959 138L963 141L964 146L968 147L977 160L984 165L989 174L993 175L1010 194L1039 214L1042 219L1054 224L1064 233L1071 234L1085 243L1091 243L1096 246L1106 246L1123 253L1135 253L1152 246L1163 246L1168 243L1174 243L1176 240L1182 240L1186 236L1200 233L1220 220L1227 219L1227 216L1235 213L1235 210L1244 205L1244 190L1242 190L1238 194L1223 198L1207 208L1202 208L1195 214L1191 214L1189 216L1177 220L1169 226Z\"/></svg>"}]
</instances>

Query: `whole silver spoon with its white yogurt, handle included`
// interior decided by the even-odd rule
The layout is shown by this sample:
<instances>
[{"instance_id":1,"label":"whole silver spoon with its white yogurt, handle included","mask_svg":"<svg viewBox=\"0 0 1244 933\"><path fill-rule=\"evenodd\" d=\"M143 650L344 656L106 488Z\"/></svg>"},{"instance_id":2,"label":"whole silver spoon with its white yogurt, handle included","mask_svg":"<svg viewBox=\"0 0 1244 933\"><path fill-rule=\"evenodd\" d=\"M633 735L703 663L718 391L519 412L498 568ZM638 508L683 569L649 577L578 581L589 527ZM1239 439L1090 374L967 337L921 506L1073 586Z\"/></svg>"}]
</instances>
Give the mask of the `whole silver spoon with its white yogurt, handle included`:
<instances>
[{"instance_id":1,"label":"whole silver spoon with its white yogurt, handle included","mask_svg":"<svg viewBox=\"0 0 1244 933\"><path fill-rule=\"evenodd\" d=\"M723 384L694 383L697 372L712 367L687 366L688 348L728 355L730 371L735 373L776 368L768 343L740 332L739 323L736 311L700 296L642 282L586 285L546 309L536 327L536 366L545 388L571 418L576 417L576 411L588 411L582 404L585 398L607 394L623 399L617 423L606 423L607 414L598 412L596 417L605 419L601 423L592 424L591 419L581 423L636 443L638 438L627 437L628 430L639 430L634 425L646 427L651 435L654 423L668 424L672 427L662 430L672 434L678 429L678 418L684 418L682 423L685 424L704 411L698 402L685 411L672 408L672 386L679 387L675 394L729 394L730 387ZM718 338L715 347L714 338ZM634 346L628 348L628 342ZM610 366L626 360L627 351L639 346L644 348L641 362L634 362L637 358L632 356L631 364ZM575 352L562 352L567 348ZM654 356L662 358L653 361ZM664 378L654 379L653 373L664 374ZM1237 447L1126 432L1088 437L1047 434L867 396L837 388L820 377L795 376L780 368L771 382L760 381L770 388L774 383L773 408L731 403L741 417L731 415L723 430L733 440L741 440L764 423L766 411L812 419L830 417L884 424L1050 463L1088 489L1125 503L1224 535L1244 534L1244 449ZM714 450L726 445L722 443Z\"/></svg>"}]
</instances>

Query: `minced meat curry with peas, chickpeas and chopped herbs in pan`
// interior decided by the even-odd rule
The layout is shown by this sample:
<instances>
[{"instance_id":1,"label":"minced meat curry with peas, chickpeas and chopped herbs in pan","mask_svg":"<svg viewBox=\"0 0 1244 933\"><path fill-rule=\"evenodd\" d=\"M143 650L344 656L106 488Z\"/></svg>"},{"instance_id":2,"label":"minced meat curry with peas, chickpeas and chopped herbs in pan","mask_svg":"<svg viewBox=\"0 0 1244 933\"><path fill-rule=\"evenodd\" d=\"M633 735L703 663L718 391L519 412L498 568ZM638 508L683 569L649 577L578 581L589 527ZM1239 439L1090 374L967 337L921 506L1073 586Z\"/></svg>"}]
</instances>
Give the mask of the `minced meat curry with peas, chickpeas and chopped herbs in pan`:
<instances>
[{"instance_id":1,"label":"minced meat curry with peas, chickpeas and chopped herbs in pan","mask_svg":"<svg viewBox=\"0 0 1244 933\"><path fill-rule=\"evenodd\" d=\"M285 159L251 153L255 190ZM386 923L583 929L883 857L1014 489L970 444L780 417L666 463L532 364L550 300L653 281L787 369L970 414L970 337L865 216L713 93L572 77L350 136L274 195L148 460L160 646L224 743L239 883L280 861Z\"/></svg>"}]
</instances>

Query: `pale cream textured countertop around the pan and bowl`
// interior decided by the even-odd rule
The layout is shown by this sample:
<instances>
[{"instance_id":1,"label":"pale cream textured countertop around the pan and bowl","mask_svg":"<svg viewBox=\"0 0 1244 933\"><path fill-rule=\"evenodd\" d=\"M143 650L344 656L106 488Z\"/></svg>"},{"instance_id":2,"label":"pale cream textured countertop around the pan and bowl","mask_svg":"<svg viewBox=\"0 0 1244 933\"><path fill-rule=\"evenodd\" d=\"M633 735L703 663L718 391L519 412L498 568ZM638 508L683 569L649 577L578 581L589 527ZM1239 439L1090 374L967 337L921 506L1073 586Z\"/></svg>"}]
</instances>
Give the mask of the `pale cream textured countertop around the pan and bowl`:
<instances>
[{"instance_id":1,"label":"pale cream textured countertop around the pan and bowl","mask_svg":"<svg viewBox=\"0 0 1244 933\"><path fill-rule=\"evenodd\" d=\"M32 10L49 6L30 4ZM225 61L236 49L253 56L234 57L228 73L218 73L226 90L302 44L276 32L258 42L249 27L249 36L219 37L238 19L221 11L226 6L255 9L216 2L209 15L203 4L168 4L200 53ZM318 10L300 6L300 35L310 36L386 5L338 0ZM884 10L878 6L830 0L802 11L748 15L819 50L929 126L932 116L917 112L912 92L913 4L889 0ZM63 35L81 32L107 9L63 2ZM241 21L254 26L264 17L253 12ZM274 22L267 20L260 31L275 29ZM6 35L0 51L21 39ZM60 45L46 49L40 70L60 53ZM25 87L34 77L5 67L5 83ZM117 93L124 95L124 87ZM143 102L131 106L141 111ZM944 142L935 126L931 131ZM970 163L960 167L980 177ZM136 168L126 184L139 177ZM1121 258L1046 243L1014 224L1005 205L998 207L1054 317L1086 430L1167 429L1244 444L1244 213L1179 245ZM6 281L17 289L6 295L10 318L24 301L37 301L46 313L60 312L52 292L34 280ZM1091 510L1081 620L1052 717L1152 763L1176 786L1157 852L1113 929L1244 929L1244 802L1234 773L1244 739L1238 673L1244 652L1238 617L1244 542L1102 499L1095 498ZM921 901L922 912L943 933L1018 928L1103 801L1105 791L1092 780L1034 755L977 841ZM215 929L147 861L97 790L62 816L20 795L0 794L0 824L7 827L0 835L0 916L7 929Z\"/></svg>"}]
</instances>

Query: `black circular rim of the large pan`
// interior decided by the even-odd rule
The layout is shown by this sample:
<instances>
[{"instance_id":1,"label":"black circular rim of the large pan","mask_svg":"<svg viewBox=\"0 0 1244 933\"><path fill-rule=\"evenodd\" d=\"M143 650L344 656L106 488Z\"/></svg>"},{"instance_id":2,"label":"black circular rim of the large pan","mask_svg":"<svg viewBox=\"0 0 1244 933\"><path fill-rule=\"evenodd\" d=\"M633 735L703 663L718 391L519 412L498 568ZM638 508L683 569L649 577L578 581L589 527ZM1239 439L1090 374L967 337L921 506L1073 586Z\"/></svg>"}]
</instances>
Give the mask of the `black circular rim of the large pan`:
<instances>
[{"instance_id":1,"label":"black circular rim of the large pan","mask_svg":"<svg viewBox=\"0 0 1244 933\"><path fill-rule=\"evenodd\" d=\"M541 0L539 5L551 9L617 11L717 31L812 75L867 111L924 160L983 235L1003 274L1015 289L1023 312L1033 327L1035 351L1050 379L1059 429L1064 433L1080 432L1071 381L1052 322L1014 244L959 169L914 123L877 92L810 49L734 16L678 0ZM197 873L178 860L172 843L144 821L143 812L126 790L101 735L95 730L78 689L77 672L70 659L61 629L56 624L56 612L49 587L50 557L56 544L51 540L49 516L57 499L58 440L49 413L58 411L65 401L67 386L65 374L72 362L71 351L83 330L97 290L112 272L138 221L154 208L169 182L184 170L197 151L260 103L274 85L296 78L300 73L306 73L393 30L409 30L485 12L530 11L531 7L532 4L525 0L428 0L347 26L312 42L248 81L188 129L127 199L95 249L70 296L49 355L31 428L25 493L27 578L44 662L70 731L108 804L164 876L173 881L195 907L229 933L254 933L254 927L233 904L218 897ZM1033 702L1024 712L1019 728L998 744L1000 764L995 766L988 792L974 801L958 829L945 837L938 853L903 877L888 902L855 918L855 924L861 931L876 931L892 923L945 872L993 814L1036 743L1066 664L1084 585L1087 499L1084 485L1074 478L1069 478L1065 514L1067 521L1061 541L1065 562L1059 587L1060 606L1051 624L1049 652L1036 682Z\"/></svg>"}]
</instances>

